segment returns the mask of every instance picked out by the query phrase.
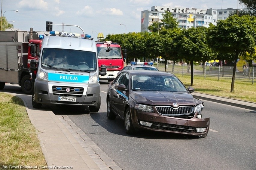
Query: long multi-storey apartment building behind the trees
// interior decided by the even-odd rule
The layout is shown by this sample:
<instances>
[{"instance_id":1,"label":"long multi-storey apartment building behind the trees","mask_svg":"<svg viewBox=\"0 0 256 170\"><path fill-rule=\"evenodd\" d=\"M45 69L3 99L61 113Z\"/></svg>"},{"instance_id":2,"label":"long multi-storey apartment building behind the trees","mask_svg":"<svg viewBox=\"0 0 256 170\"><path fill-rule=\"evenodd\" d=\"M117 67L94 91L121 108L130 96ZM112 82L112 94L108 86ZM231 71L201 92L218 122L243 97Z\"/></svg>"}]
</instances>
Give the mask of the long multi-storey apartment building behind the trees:
<instances>
[{"instance_id":1,"label":"long multi-storey apartment building behind the trees","mask_svg":"<svg viewBox=\"0 0 256 170\"><path fill-rule=\"evenodd\" d=\"M239 9L248 12L249 9ZM177 19L178 28L207 27L210 23L217 24L218 20L227 19L231 12L237 12L237 9L227 8L221 10L198 9L198 8L179 8L152 6L151 10L141 12L141 32L149 31L148 26L154 22L161 22L165 11L172 13L173 18Z\"/></svg>"}]
</instances>

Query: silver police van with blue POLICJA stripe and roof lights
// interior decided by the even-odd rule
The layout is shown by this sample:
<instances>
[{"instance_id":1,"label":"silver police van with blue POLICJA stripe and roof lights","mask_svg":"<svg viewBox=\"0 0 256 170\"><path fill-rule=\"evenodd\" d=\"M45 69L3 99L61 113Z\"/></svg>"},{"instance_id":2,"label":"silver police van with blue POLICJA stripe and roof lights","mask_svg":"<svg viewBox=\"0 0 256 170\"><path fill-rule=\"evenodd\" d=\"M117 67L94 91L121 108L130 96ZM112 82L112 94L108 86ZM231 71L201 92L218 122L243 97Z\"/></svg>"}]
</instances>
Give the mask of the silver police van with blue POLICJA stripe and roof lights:
<instances>
[{"instance_id":1,"label":"silver police van with blue POLICJA stripe and roof lights","mask_svg":"<svg viewBox=\"0 0 256 170\"><path fill-rule=\"evenodd\" d=\"M88 34L50 31L44 36L38 63L31 61L34 78L32 105L64 104L89 106L98 112L101 104L96 42Z\"/></svg>"}]
</instances>

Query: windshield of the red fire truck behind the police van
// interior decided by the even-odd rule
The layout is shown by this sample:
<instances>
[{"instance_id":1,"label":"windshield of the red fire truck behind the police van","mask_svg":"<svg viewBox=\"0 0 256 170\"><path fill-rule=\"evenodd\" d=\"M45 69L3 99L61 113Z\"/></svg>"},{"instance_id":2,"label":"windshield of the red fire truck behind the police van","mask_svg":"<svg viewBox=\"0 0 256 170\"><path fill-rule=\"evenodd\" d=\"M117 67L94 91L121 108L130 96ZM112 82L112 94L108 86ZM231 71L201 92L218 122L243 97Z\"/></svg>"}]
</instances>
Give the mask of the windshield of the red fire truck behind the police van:
<instances>
[{"instance_id":1,"label":"windshield of the red fire truck behind the police van","mask_svg":"<svg viewBox=\"0 0 256 170\"><path fill-rule=\"evenodd\" d=\"M111 59L111 58L116 58L116 59L121 59L121 51L120 48L118 47L111 47L112 50L106 51L108 48L107 47L97 47L98 51L98 58L106 58L106 59Z\"/></svg>"}]
</instances>

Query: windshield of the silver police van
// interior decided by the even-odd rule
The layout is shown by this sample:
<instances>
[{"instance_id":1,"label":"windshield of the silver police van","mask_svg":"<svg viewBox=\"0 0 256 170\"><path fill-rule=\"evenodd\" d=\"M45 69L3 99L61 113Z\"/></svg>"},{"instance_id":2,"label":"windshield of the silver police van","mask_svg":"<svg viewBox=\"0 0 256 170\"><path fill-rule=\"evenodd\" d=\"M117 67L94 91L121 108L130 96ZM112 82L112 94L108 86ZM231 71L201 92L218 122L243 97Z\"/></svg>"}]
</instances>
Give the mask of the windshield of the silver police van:
<instances>
[{"instance_id":1,"label":"windshield of the silver police van","mask_svg":"<svg viewBox=\"0 0 256 170\"><path fill-rule=\"evenodd\" d=\"M41 66L44 69L69 69L79 71L96 71L96 53L61 48L44 48Z\"/></svg>"}]
</instances>

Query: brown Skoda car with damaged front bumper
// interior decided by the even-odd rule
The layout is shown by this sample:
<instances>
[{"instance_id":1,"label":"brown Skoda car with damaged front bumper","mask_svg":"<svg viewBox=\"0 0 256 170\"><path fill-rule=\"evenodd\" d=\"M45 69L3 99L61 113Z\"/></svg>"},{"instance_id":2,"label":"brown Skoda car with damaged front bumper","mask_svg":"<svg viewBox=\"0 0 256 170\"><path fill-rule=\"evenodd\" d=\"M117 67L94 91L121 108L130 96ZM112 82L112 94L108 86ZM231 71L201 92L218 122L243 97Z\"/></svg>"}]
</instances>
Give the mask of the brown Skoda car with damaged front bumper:
<instances>
[{"instance_id":1,"label":"brown Skoda car with damaged front bumper","mask_svg":"<svg viewBox=\"0 0 256 170\"><path fill-rule=\"evenodd\" d=\"M124 120L127 134L146 129L206 137L203 102L173 74L125 70L108 85L107 116Z\"/></svg>"}]
</instances>

